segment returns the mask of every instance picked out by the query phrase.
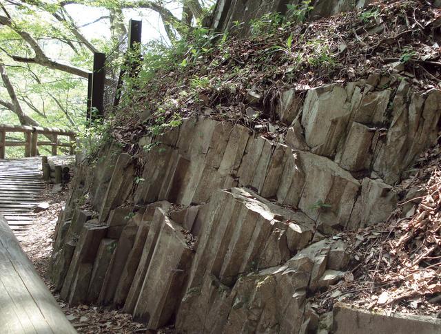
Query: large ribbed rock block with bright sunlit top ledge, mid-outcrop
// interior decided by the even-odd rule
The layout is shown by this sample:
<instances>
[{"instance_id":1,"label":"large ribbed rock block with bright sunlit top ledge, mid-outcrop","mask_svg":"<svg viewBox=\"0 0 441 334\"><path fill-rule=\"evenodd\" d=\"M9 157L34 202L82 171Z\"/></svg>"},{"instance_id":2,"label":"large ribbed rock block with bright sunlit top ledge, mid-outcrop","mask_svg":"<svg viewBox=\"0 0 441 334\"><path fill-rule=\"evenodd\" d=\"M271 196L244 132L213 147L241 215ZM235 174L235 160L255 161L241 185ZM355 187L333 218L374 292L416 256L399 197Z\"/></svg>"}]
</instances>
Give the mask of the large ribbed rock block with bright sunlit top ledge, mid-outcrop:
<instances>
[{"instance_id":1,"label":"large ribbed rock block with bright sunlit top ledge, mid-outcrop","mask_svg":"<svg viewBox=\"0 0 441 334\"><path fill-rule=\"evenodd\" d=\"M289 258L285 233L286 222L296 220L292 211L243 188L216 191L208 211L210 215L198 240L190 288L200 285L205 273L212 273L229 285L238 273L280 265Z\"/></svg>"}]
</instances>

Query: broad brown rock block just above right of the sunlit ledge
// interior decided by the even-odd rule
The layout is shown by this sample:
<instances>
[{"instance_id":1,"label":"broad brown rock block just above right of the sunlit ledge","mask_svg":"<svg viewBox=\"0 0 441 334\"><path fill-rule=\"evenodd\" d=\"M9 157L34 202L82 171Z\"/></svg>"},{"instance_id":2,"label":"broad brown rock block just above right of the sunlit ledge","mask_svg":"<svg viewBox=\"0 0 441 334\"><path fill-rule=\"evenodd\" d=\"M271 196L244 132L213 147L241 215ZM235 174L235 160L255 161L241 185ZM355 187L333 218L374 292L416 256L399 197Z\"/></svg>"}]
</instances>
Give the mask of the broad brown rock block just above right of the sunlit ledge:
<instances>
[{"instance_id":1,"label":"broad brown rock block just above right of the sunlit ledge","mask_svg":"<svg viewBox=\"0 0 441 334\"><path fill-rule=\"evenodd\" d=\"M309 152L291 152L282 180L278 202L301 209L318 222L320 231L332 233L349 221L360 183L333 161Z\"/></svg>"}]
</instances>

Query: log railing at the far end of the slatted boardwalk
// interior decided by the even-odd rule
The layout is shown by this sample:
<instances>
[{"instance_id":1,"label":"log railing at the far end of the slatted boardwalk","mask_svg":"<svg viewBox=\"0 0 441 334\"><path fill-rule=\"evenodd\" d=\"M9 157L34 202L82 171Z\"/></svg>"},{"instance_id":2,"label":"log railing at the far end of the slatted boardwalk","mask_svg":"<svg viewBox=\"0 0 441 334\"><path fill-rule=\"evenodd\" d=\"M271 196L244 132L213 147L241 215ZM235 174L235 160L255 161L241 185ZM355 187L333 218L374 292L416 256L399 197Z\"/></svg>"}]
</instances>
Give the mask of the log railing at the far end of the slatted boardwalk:
<instances>
[{"instance_id":1,"label":"log railing at the far end of the slatted boardwalk","mask_svg":"<svg viewBox=\"0 0 441 334\"><path fill-rule=\"evenodd\" d=\"M25 141L6 141L7 132L21 132L25 136ZM52 140L39 142L39 134L52 136ZM59 136L69 137L69 143L60 143ZM8 146L24 146L25 157L37 156L37 146L51 146L52 156L57 155L58 147L69 147L69 154L73 155L75 138L75 132L58 129L57 127L0 124L0 159L5 158L6 147Z\"/></svg>"}]
</instances>

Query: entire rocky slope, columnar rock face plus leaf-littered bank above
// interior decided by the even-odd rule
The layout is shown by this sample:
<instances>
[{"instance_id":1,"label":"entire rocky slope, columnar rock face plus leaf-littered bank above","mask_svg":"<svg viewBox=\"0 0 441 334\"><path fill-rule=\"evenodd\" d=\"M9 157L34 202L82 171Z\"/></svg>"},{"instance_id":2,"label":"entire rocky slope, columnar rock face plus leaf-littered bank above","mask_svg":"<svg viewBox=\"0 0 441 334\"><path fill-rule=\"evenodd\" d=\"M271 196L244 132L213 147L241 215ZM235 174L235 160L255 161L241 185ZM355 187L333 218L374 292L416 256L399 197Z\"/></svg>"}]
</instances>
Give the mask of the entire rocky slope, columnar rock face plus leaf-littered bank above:
<instances>
[{"instance_id":1,"label":"entire rocky slope, columnar rock face plus leaf-littered bank above","mask_svg":"<svg viewBox=\"0 0 441 334\"><path fill-rule=\"evenodd\" d=\"M78 166L54 238L61 298L177 333L332 331L329 311L356 298L356 282L383 292L363 285L371 243L356 240L393 237L382 223L422 212L397 207L416 197L404 185L437 144L440 14L380 1L265 23L163 68ZM418 270L437 242L419 244L433 249ZM423 298L439 293L436 275L425 282Z\"/></svg>"}]
</instances>

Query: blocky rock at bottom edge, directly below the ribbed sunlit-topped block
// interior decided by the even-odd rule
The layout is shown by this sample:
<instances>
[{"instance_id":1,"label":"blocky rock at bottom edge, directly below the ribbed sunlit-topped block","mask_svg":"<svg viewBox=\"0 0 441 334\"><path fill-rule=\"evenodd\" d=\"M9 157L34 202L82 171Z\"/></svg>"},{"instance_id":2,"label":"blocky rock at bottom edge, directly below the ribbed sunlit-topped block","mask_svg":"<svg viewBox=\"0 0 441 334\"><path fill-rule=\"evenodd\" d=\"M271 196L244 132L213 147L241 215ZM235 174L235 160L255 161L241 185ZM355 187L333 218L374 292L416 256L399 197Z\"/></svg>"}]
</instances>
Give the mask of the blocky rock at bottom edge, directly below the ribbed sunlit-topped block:
<instances>
[{"instance_id":1,"label":"blocky rock at bottom edge, directly below the ribbed sunlit-topped block","mask_svg":"<svg viewBox=\"0 0 441 334\"><path fill-rule=\"evenodd\" d=\"M308 279L308 273L287 267L240 278L224 333L295 333L303 322Z\"/></svg>"}]
</instances>

